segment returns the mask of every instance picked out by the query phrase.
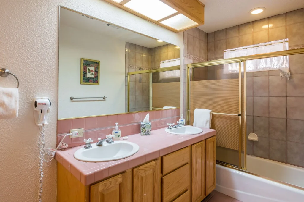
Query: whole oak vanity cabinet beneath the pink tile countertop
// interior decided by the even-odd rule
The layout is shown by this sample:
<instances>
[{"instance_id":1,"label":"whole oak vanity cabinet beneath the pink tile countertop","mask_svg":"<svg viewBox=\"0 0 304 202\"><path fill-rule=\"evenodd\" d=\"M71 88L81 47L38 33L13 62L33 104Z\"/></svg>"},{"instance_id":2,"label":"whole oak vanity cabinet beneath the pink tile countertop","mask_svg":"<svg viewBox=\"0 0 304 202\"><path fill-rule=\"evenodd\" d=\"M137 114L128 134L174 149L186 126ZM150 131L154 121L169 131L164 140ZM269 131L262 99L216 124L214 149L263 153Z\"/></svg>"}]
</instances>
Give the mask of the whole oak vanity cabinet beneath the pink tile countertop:
<instances>
[{"instance_id":1,"label":"whole oak vanity cabinet beneath the pink tile countertop","mask_svg":"<svg viewBox=\"0 0 304 202\"><path fill-rule=\"evenodd\" d=\"M216 186L216 137L86 186L57 165L58 202L200 202Z\"/></svg>"}]
</instances>

